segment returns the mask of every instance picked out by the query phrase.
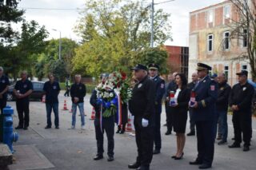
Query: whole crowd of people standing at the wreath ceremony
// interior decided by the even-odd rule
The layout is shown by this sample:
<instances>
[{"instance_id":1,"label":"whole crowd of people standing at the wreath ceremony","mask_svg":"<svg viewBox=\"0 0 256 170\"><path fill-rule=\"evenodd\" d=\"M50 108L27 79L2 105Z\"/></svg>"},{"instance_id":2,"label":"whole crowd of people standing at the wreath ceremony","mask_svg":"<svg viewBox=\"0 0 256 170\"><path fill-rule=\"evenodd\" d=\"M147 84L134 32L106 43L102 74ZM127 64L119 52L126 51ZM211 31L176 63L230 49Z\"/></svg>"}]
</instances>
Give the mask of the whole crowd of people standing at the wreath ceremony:
<instances>
[{"instance_id":1,"label":"whole crowd of people standing at the wreath ceremony","mask_svg":"<svg viewBox=\"0 0 256 170\"><path fill-rule=\"evenodd\" d=\"M227 113L233 112L232 122L234 125L234 143L229 148L240 148L242 140L243 151L250 150L252 137L252 113L251 104L254 96L254 87L247 82L248 73L242 70L238 75L238 84L232 88L227 83L225 73L218 73L210 77L210 65L198 63L197 72L192 74L192 81L182 73L171 73L165 82L159 76L159 65L152 63L146 65L135 65L132 69L134 84L132 97L127 103L122 103L122 125L118 125L117 133L126 130L128 110L134 116L134 128L138 156L128 168L147 170L153 155L161 153L161 113L162 99L165 101L166 109L166 135L176 133L177 150L174 160L181 160L184 156L186 136L197 136L198 156L190 164L199 165L198 168L211 168L214 160L214 142L227 144ZM51 128L51 112L54 111L54 125L59 128L58 118L58 95L60 85L54 80L54 74L48 75L49 81L44 84L46 93L46 127ZM107 73L102 73L101 80L108 79ZM10 85L8 77L0 67L0 106L6 107L6 92ZM14 86L16 106L18 112L18 126L16 129L26 130L30 122L29 97L33 91L33 85L27 78L26 71L22 71L21 79ZM81 75L74 77L74 84L66 80L65 96L72 100L72 123L71 129L76 127L77 108L81 115L81 128L85 129L84 97L86 96L86 85L81 81ZM104 105L103 105L104 104ZM97 155L94 160L103 158L104 132L107 136L108 161L114 160L114 123L115 116L102 117L102 111L107 109L105 102L98 97L95 89L90 96L90 105L95 109L94 120L95 136L97 144ZM190 132L186 134L187 118L190 118ZM186 135L185 135L186 134Z\"/></svg>"}]
</instances>

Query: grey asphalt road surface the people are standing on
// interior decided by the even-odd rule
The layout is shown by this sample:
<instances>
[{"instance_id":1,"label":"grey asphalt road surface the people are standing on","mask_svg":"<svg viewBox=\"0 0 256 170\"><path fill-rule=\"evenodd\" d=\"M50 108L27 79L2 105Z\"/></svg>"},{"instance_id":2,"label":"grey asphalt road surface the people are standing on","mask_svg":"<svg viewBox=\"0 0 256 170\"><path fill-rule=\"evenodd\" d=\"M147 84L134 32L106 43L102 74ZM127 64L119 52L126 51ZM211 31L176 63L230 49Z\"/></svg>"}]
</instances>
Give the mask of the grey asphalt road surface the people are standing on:
<instances>
[{"instance_id":1,"label":"grey asphalt road surface the people are standing on","mask_svg":"<svg viewBox=\"0 0 256 170\"><path fill-rule=\"evenodd\" d=\"M134 162L137 156L134 136L129 136L128 132L124 135L115 134L114 162L105 159L94 161L96 153L96 141L94 135L93 121L90 121L91 106L89 97L86 97L86 130L80 127L80 117L77 116L77 129L70 130L71 113L63 111L63 101L67 101L70 109L70 98L60 95L60 129L45 129L46 109L41 102L30 102L30 128L28 131L19 130L20 139L14 145L33 144L58 170L106 170L106 169L128 169L127 164ZM14 102L9 105L16 109ZM163 110L164 111L164 110ZM233 128L229 116L229 140L233 136ZM162 113L162 125L165 123L165 113ZM18 125L18 117L15 112L14 126ZM187 124L189 127L189 124ZM215 144L214 169L254 169L256 167L256 120L253 122L254 134L250 152L242 152L242 148L230 149L227 145L218 146ZM189 129L187 129L187 132ZM162 127L162 153L154 156L151 169L198 169L198 166L189 165L190 160L194 160L197 154L196 137L186 137L185 155L182 160L173 160L170 156L175 153L176 138L174 135L165 136L166 127ZM105 138L106 148L106 138Z\"/></svg>"}]
</instances>

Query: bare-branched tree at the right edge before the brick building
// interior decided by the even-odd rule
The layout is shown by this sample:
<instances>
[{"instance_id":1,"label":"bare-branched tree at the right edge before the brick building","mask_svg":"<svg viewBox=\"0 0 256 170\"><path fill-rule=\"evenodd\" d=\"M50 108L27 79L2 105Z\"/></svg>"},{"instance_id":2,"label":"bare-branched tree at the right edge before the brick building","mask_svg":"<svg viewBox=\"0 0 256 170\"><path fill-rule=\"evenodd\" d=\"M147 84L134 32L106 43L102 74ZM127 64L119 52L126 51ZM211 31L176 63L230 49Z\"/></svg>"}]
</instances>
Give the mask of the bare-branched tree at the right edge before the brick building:
<instances>
[{"instance_id":1,"label":"bare-branched tree at the right edge before the brick building","mask_svg":"<svg viewBox=\"0 0 256 170\"><path fill-rule=\"evenodd\" d=\"M256 81L256 1L255 0L230 0L235 7L237 18L232 21L230 38L245 40L247 50L240 57L249 60L252 80Z\"/></svg>"}]
</instances>

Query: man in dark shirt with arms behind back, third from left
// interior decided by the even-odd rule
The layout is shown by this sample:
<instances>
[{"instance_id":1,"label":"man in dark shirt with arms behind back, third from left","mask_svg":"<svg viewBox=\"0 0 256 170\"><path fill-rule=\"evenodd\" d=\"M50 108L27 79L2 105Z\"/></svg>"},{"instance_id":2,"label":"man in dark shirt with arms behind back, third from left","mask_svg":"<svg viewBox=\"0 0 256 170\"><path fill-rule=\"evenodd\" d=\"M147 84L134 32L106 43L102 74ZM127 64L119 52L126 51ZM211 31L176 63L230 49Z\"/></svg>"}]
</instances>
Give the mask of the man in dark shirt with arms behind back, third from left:
<instances>
[{"instance_id":1,"label":"man in dark shirt with arms behind back, third from left","mask_svg":"<svg viewBox=\"0 0 256 170\"><path fill-rule=\"evenodd\" d=\"M61 91L57 81L54 81L54 74L49 73L49 81L43 85L43 90L46 93L46 128L51 128L51 110L54 110L54 125L58 128L58 94Z\"/></svg>"}]
</instances>

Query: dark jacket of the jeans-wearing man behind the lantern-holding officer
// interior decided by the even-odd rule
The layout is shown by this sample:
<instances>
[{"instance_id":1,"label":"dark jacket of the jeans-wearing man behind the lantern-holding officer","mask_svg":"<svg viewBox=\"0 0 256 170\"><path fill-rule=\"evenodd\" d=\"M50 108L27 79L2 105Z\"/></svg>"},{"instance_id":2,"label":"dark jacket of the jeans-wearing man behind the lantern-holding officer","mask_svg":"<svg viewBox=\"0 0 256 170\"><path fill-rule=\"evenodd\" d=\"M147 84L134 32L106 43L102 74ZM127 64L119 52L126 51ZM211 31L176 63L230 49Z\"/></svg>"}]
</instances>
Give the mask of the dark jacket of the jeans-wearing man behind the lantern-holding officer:
<instances>
[{"instance_id":1,"label":"dark jacket of the jeans-wearing man behind the lantern-holding officer","mask_svg":"<svg viewBox=\"0 0 256 170\"><path fill-rule=\"evenodd\" d=\"M231 87L226 82L218 84L218 99L216 102L217 111L227 112L229 106Z\"/></svg>"}]
</instances>

